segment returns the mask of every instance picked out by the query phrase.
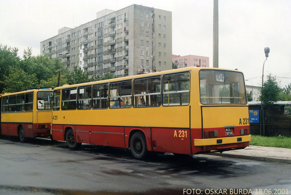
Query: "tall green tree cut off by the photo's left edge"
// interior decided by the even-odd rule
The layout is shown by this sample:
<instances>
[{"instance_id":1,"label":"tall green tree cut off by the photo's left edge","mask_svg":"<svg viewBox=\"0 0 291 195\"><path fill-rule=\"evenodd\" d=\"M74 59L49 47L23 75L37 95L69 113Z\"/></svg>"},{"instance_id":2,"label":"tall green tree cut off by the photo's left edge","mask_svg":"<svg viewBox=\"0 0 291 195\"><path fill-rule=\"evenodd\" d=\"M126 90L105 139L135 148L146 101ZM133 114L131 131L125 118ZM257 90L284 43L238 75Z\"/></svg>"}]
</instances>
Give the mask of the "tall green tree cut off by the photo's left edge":
<instances>
[{"instance_id":1,"label":"tall green tree cut off by the photo's left edge","mask_svg":"<svg viewBox=\"0 0 291 195\"><path fill-rule=\"evenodd\" d=\"M0 93L8 86L4 75L8 76L11 67L19 65L18 49L0 44Z\"/></svg>"}]
</instances>

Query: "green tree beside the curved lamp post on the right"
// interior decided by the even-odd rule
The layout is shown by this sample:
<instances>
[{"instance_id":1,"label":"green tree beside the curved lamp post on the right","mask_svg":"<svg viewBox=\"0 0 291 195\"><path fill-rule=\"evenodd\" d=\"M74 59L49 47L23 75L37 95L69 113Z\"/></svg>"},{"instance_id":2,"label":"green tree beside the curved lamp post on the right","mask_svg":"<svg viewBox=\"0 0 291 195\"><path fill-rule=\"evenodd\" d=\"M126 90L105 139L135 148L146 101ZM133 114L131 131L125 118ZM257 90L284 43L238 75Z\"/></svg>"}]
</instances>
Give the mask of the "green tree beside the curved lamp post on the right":
<instances>
[{"instance_id":1,"label":"green tree beside the curved lamp post on the right","mask_svg":"<svg viewBox=\"0 0 291 195\"><path fill-rule=\"evenodd\" d=\"M260 101L263 101L266 106L271 106L280 100L281 88L276 77L271 74L267 76L267 80L263 83L263 88L260 91Z\"/></svg>"}]
</instances>

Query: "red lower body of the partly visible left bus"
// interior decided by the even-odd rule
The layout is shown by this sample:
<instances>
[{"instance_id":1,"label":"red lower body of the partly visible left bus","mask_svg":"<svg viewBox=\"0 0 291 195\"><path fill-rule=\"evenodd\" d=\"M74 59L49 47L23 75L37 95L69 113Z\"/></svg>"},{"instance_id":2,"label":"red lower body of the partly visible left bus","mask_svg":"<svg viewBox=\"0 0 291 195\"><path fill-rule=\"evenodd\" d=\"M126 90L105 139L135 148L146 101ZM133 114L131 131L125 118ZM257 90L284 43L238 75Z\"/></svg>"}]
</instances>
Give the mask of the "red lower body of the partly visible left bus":
<instances>
[{"instance_id":1,"label":"red lower body of the partly visible left bus","mask_svg":"<svg viewBox=\"0 0 291 195\"><path fill-rule=\"evenodd\" d=\"M1 134L9 136L18 136L19 128L23 127L25 137L49 137L51 124L50 123L6 123L1 122ZM47 128L44 128L47 126Z\"/></svg>"}]
</instances>

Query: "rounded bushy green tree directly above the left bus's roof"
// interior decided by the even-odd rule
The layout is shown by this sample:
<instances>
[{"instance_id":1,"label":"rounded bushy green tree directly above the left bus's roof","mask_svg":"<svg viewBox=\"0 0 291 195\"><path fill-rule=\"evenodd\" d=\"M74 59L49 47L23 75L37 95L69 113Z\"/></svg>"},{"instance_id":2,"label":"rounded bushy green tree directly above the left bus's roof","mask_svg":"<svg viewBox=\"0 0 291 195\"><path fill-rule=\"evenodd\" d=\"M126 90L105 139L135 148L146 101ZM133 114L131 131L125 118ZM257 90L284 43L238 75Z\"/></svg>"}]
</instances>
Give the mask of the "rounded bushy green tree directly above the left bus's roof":
<instances>
[{"instance_id":1,"label":"rounded bushy green tree directly above the left bus's roof","mask_svg":"<svg viewBox=\"0 0 291 195\"><path fill-rule=\"evenodd\" d=\"M6 87L3 92L19 92L25 88L38 87L36 74L28 74L24 70L12 67L8 76L4 76ZM2 82L2 81L1 81Z\"/></svg>"}]
</instances>

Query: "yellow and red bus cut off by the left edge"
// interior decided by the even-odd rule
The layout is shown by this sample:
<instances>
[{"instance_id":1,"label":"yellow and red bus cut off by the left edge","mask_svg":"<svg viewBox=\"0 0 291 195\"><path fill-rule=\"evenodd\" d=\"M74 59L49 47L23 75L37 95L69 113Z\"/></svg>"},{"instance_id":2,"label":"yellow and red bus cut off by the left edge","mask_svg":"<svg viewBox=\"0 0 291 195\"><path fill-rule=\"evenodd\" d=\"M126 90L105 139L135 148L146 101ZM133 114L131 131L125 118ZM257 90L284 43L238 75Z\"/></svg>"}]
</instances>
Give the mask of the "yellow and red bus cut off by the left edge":
<instances>
[{"instance_id":1,"label":"yellow and red bus cut off by the left edge","mask_svg":"<svg viewBox=\"0 0 291 195\"><path fill-rule=\"evenodd\" d=\"M1 135L50 137L53 90L28 90L1 96Z\"/></svg>"}]
</instances>

